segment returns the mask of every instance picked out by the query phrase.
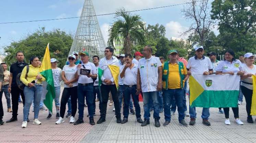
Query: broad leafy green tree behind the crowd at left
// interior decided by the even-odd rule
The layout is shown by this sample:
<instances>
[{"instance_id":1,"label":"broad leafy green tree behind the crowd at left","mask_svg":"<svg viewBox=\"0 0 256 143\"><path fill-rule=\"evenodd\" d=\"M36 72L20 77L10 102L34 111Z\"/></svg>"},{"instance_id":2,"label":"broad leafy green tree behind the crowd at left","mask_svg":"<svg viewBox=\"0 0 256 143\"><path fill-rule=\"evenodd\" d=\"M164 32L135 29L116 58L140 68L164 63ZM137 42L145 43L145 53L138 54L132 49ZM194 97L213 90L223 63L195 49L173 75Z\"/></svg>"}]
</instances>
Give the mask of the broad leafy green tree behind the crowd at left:
<instances>
[{"instance_id":1,"label":"broad leafy green tree behind the crowd at left","mask_svg":"<svg viewBox=\"0 0 256 143\"><path fill-rule=\"evenodd\" d=\"M27 34L23 39L17 42L12 42L9 46L4 47L8 54L5 62L8 65L16 62L15 54L17 51L23 51L25 61L29 63L29 58L38 56L42 61L45 54L45 48L48 43L50 48L51 58L56 58L59 61L58 66L62 68L65 65L69 54L73 39L66 32L56 29L46 31L44 27L37 29L34 33Z\"/></svg>"}]
</instances>

